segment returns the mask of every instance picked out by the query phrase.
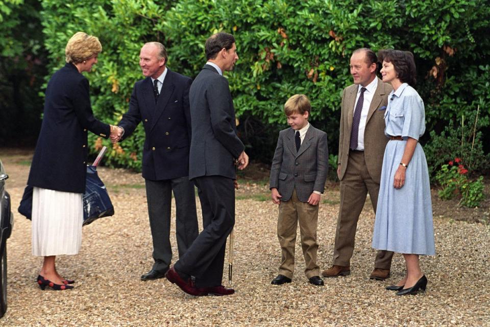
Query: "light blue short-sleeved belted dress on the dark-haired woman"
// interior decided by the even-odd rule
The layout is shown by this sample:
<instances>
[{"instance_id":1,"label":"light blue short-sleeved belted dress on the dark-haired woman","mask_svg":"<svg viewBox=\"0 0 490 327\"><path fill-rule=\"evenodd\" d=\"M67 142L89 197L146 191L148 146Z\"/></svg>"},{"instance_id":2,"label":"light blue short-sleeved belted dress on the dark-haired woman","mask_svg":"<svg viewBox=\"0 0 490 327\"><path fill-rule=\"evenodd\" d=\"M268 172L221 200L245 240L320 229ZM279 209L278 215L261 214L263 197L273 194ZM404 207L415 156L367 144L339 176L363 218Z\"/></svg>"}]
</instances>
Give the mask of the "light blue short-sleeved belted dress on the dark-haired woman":
<instances>
[{"instance_id":1,"label":"light blue short-sleeved belted dress on the dark-haired woman","mask_svg":"<svg viewBox=\"0 0 490 327\"><path fill-rule=\"evenodd\" d=\"M372 245L378 250L435 255L429 171L419 143L406 169L403 187L393 186L407 137L418 140L425 132L422 98L403 83L389 94L384 120L385 135L402 136L403 141L390 140L384 151Z\"/></svg>"}]
</instances>

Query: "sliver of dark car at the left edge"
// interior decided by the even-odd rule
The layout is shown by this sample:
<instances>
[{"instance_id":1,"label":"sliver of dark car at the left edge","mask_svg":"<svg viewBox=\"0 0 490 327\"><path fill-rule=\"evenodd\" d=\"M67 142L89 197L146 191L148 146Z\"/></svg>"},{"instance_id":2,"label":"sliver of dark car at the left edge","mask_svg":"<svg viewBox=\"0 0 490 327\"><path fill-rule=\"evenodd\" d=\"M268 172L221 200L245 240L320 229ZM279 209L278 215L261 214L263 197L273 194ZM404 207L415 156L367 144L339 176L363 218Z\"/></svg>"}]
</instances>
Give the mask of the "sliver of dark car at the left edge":
<instances>
[{"instance_id":1,"label":"sliver of dark car at the left edge","mask_svg":"<svg viewBox=\"0 0 490 327\"><path fill-rule=\"evenodd\" d=\"M7 239L12 233L14 222L10 211L10 195L5 190L5 180L9 178L0 161L0 318L7 311Z\"/></svg>"}]
</instances>

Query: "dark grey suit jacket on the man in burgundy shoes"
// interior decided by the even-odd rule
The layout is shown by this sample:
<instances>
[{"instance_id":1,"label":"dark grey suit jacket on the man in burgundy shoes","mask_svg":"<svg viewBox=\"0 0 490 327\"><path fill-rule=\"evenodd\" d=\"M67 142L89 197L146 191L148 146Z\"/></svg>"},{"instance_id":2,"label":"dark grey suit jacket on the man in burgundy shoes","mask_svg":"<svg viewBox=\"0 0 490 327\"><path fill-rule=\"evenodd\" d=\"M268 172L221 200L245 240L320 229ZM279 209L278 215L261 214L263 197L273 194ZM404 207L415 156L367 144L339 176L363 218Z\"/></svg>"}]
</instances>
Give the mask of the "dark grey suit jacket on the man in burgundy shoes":
<instances>
[{"instance_id":1,"label":"dark grey suit jacket on the man in burgundy shoes","mask_svg":"<svg viewBox=\"0 0 490 327\"><path fill-rule=\"evenodd\" d=\"M189 178L235 178L234 160L244 150L236 135L235 108L228 80L204 65L189 92L192 117Z\"/></svg>"}]
</instances>

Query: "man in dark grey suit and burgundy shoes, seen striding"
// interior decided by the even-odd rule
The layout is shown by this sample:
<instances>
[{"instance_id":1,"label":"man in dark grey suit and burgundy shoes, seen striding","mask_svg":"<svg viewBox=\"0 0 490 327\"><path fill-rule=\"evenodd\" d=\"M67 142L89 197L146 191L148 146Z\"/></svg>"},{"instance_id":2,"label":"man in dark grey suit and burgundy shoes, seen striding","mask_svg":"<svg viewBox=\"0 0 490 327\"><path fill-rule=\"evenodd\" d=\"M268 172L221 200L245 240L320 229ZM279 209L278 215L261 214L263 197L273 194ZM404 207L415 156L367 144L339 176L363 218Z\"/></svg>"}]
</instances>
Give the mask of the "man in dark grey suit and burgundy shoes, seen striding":
<instances>
[{"instance_id":1,"label":"man in dark grey suit and burgundy shoes, seen striding","mask_svg":"<svg viewBox=\"0 0 490 327\"><path fill-rule=\"evenodd\" d=\"M189 178L199 189L204 229L166 277L191 295L230 295L235 291L225 288L222 278L226 239L235 224L235 165L242 170L249 158L236 135L233 100L223 77L238 60L235 38L214 34L205 51L208 62L189 91Z\"/></svg>"}]
</instances>

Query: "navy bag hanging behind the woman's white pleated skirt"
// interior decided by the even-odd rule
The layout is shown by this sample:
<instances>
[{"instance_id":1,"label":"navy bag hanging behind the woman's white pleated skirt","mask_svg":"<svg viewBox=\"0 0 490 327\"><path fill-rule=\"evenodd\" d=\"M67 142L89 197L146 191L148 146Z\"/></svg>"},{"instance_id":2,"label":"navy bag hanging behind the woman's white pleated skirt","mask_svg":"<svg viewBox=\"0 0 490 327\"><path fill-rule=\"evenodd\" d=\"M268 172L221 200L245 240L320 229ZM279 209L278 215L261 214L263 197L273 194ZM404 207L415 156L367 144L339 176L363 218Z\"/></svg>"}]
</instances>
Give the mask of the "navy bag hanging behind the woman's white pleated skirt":
<instances>
[{"instance_id":1,"label":"navy bag hanging behind the woman's white pleated skirt","mask_svg":"<svg viewBox=\"0 0 490 327\"><path fill-rule=\"evenodd\" d=\"M94 164L97 163L96 159ZM32 219L32 191L33 187L27 185L18 208L19 213L22 216L26 216L27 219ZM106 185L97 175L96 166L87 166L87 180L83 195L83 225L85 226L96 219L113 215L114 206L107 193Z\"/></svg>"}]
</instances>

